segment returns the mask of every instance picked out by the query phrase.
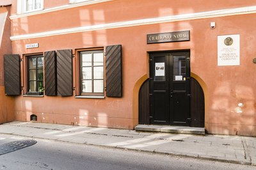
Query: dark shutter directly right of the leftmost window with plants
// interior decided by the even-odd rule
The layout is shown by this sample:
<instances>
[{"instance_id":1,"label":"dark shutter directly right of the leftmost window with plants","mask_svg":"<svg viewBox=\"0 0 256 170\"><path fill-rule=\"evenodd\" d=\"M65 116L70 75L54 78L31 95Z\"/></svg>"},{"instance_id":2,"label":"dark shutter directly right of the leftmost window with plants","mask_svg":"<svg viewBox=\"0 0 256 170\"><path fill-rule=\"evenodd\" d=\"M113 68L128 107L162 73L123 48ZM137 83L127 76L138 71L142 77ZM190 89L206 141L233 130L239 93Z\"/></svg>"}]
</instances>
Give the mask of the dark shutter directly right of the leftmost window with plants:
<instances>
[{"instance_id":1,"label":"dark shutter directly right of the leftmost window with plants","mask_svg":"<svg viewBox=\"0 0 256 170\"><path fill-rule=\"evenodd\" d=\"M57 65L54 50L44 52L45 95L57 95Z\"/></svg>"}]
</instances>

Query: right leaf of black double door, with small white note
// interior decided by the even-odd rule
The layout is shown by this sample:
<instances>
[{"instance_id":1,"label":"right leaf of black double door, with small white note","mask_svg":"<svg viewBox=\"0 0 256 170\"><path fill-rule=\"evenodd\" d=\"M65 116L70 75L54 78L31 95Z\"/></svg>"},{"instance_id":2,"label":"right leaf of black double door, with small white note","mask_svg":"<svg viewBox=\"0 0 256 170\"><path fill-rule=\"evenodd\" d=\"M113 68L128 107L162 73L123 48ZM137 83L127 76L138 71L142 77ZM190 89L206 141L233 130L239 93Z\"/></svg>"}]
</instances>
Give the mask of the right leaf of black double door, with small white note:
<instances>
[{"instance_id":1,"label":"right leaf of black double door, with small white note","mask_svg":"<svg viewBox=\"0 0 256 170\"><path fill-rule=\"evenodd\" d=\"M189 126L189 52L171 52L170 63L170 125Z\"/></svg>"}]
</instances>

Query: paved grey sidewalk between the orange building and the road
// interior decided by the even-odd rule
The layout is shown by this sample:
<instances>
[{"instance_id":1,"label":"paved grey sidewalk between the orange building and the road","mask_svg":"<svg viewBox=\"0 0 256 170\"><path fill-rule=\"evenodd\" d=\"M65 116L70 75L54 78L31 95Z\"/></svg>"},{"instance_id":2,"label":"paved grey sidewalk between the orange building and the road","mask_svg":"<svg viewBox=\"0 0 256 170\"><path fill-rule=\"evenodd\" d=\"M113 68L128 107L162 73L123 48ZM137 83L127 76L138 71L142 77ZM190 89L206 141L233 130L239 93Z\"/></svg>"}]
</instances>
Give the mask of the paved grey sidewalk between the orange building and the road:
<instances>
[{"instance_id":1,"label":"paved grey sidewalk between the orange building and the road","mask_svg":"<svg viewBox=\"0 0 256 170\"><path fill-rule=\"evenodd\" d=\"M135 130L76 127L20 121L0 125L0 134L165 153L256 166L256 137L136 132Z\"/></svg>"}]
</instances>

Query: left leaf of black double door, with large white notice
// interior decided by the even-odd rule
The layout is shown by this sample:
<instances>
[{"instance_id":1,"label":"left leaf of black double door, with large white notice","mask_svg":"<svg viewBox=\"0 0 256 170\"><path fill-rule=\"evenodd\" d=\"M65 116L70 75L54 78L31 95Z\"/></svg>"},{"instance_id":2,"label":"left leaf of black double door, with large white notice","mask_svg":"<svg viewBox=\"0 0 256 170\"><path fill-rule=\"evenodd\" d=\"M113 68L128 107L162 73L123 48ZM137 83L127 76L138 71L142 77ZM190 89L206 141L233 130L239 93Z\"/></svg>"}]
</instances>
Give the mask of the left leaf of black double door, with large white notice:
<instances>
[{"instance_id":1,"label":"left leaf of black double door, with large white notice","mask_svg":"<svg viewBox=\"0 0 256 170\"><path fill-rule=\"evenodd\" d=\"M150 123L168 125L168 53L150 54Z\"/></svg>"}]
</instances>

